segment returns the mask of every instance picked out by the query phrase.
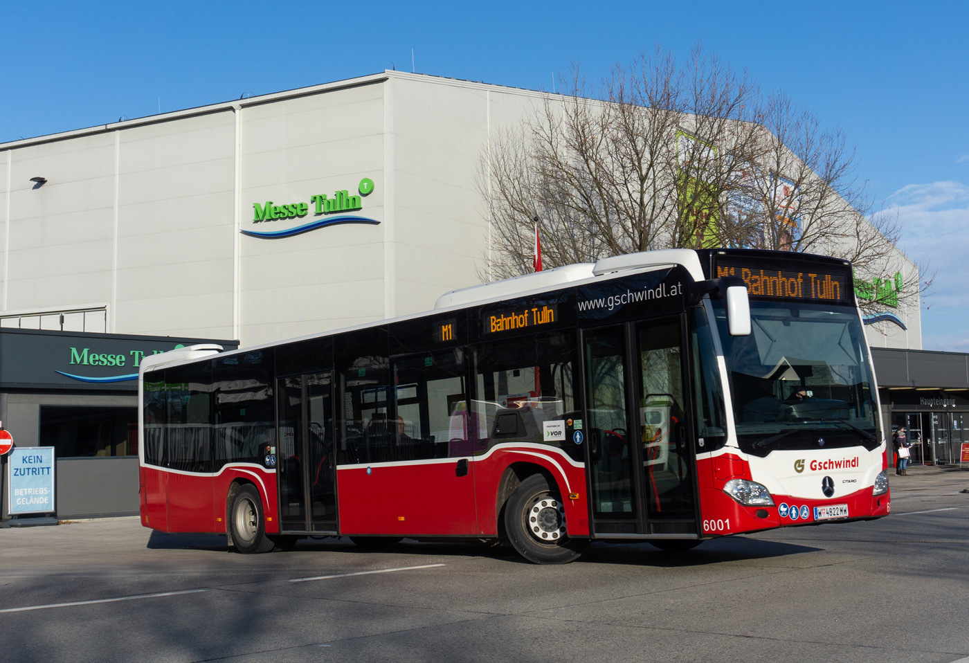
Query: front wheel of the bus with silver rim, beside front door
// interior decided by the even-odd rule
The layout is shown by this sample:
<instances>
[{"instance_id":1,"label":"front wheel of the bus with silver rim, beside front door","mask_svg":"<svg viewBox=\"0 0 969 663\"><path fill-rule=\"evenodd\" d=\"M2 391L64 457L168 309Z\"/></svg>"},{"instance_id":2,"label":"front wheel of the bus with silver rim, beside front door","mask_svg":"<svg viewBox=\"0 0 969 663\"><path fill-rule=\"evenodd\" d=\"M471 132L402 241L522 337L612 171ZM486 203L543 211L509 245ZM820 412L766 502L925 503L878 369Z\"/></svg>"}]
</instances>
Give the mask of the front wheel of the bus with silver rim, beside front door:
<instances>
[{"instance_id":1,"label":"front wheel of the bus with silver rim, beside front door","mask_svg":"<svg viewBox=\"0 0 969 663\"><path fill-rule=\"evenodd\" d=\"M536 564L565 564L578 558L588 539L566 534L562 497L542 474L520 484L505 506L505 531L522 557Z\"/></svg>"}]
</instances>

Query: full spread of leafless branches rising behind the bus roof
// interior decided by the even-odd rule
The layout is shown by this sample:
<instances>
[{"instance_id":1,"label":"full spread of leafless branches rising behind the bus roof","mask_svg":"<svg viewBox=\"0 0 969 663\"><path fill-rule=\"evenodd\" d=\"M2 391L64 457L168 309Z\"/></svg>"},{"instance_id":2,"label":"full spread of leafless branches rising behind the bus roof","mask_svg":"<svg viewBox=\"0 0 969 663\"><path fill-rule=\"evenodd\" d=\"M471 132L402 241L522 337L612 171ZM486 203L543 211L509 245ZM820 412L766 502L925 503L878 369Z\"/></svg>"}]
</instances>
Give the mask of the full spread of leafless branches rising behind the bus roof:
<instances>
[{"instance_id":1,"label":"full spread of leafless branches rising behind the bus roof","mask_svg":"<svg viewBox=\"0 0 969 663\"><path fill-rule=\"evenodd\" d=\"M872 311L924 290L916 270L894 279L906 263L897 217L871 204L843 134L784 95L762 97L746 71L702 47L682 65L657 48L598 86L578 66L561 83L482 155L490 278L531 271L537 218L549 268L751 247L851 260Z\"/></svg>"}]
</instances>

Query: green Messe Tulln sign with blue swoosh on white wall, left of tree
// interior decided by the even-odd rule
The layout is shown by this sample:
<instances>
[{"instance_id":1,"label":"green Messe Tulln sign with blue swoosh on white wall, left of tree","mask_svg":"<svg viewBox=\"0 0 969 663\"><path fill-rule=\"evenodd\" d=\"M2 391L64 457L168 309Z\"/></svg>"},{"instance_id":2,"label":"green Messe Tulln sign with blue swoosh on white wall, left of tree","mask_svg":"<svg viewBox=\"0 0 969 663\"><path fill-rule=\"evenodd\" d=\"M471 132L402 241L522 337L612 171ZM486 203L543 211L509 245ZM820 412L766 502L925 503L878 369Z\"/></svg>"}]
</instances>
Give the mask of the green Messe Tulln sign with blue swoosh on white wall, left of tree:
<instances>
[{"instance_id":1,"label":"green Messe Tulln sign with blue swoosh on white wall, left of tree","mask_svg":"<svg viewBox=\"0 0 969 663\"><path fill-rule=\"evenodd\" d=\"M366 216L359 216L358 214L342 213L362 209L363 199L373 193L373 188L373 180L369 177L364 177L359 181L359 185L357 187L359 196L356 194L352 195L348 190L343 189L333 193L332 196L327 196L326 194L314 194L313 196L309 197L309 203L297 202L277 204L274 201L266 201L266 203L253 203L253 224L266 223L268 221L301 219L308 215L311 209L314 216L322 216L323 218L315 219L293 228L283 228L273 231L242 229L239 232L248 237L278 239L281 237L293 237L294 235L308 233L309 231L316 230L318 228L335 226L344 223L377 225L380 223L380 221L377 221L376 219L371 219ZM337 215L329 216L330 214Z\"/></svg>"}]
</instances>

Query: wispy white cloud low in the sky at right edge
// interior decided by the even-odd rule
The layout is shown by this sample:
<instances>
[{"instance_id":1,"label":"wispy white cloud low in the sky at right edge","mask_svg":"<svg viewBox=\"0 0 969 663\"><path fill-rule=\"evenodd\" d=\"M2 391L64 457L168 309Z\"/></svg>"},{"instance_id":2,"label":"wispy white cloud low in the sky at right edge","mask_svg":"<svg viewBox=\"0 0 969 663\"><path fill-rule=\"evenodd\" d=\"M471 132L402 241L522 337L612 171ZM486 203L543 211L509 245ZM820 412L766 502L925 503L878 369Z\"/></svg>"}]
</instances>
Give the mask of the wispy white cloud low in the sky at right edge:
<instances>
[{"instance_id":1,"label":"wispy white cloud low in the sky at right edge","mask_svg":"<svg viewBox=\"0 0 969 663\"><path fill-rule=\"evenodd\" d=\"M902 223L900 248L936 272L922 311L922 346L969 352L969 185L909 184L889 200Z\"/></svg>"}]
</instances>

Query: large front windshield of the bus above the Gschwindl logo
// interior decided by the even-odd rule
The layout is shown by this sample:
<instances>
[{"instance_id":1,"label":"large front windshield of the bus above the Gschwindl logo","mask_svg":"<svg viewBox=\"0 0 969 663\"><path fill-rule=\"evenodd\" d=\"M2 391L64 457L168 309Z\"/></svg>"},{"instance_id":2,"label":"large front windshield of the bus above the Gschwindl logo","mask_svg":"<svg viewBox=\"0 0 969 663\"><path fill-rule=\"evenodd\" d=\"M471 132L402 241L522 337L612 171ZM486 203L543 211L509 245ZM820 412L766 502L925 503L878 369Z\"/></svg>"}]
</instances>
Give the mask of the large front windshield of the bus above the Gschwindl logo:
<instances>
[{"instance_id":1,"label":"large front windshield of the bus above the Gschwindl logo","mask_svg":"<svg viewBox=\"0 0 969 663\"><path fill-rule=\"evenodd\" d=\"M751 301L751 333L731 336L713 301L745 451L864 445L874 449L876 405L856 309Z\"/></svg>"}]
</instances>

